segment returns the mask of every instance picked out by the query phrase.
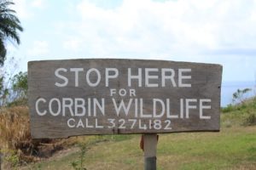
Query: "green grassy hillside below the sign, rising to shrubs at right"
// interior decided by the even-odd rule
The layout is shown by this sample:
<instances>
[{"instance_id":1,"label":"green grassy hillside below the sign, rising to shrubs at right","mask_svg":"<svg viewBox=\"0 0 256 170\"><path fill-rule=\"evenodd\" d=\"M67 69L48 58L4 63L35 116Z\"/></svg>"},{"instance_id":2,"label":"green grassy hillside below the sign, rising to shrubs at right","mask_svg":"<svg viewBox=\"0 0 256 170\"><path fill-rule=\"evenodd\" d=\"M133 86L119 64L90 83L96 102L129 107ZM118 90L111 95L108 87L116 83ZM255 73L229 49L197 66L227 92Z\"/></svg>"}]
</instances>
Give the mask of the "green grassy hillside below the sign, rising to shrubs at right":
<instances>
[{"instance_id":1,"label":"green grassy hillside below the sign, rising to shrubs at right","mask_svg":"<svg viewBox=\"0 0 256 170\"><path fill-rule=\"evenodd\" d=\"M158 169L256 169L256 99L222 111L219 133L160 134ZM58 144L68 146L69 150L16 168L73 169L75 165L79 167L82 153L87 170L143 169L140 138L108 135L61 140Z\"/></svg>"}]
</instances>

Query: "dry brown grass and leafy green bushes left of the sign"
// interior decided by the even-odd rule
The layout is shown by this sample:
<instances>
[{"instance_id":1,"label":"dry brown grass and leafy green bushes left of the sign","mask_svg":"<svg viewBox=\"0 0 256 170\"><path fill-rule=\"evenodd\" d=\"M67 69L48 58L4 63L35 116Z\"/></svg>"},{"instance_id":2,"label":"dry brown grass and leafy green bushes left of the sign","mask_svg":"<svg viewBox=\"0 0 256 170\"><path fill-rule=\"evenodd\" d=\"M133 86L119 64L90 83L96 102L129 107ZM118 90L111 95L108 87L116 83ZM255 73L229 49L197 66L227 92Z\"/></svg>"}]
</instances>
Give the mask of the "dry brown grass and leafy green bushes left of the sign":
<instances>
[{"instance_id":1,"label":"dry brown grass and leafy green bushes left of the sign","mask_svg":"<svg viewBox=\"0 0 256 170\"><path fill-rule=\"evenodd\" d=\"M8 167L17 167L49 157L69 140L34 140L30 135L27 106L27 74L20 72L9 81L0 78L0 152ZM10 83L9 83L10 82ZM8 86L9 84L9 86Z\"/></svg>"}]
</instances>

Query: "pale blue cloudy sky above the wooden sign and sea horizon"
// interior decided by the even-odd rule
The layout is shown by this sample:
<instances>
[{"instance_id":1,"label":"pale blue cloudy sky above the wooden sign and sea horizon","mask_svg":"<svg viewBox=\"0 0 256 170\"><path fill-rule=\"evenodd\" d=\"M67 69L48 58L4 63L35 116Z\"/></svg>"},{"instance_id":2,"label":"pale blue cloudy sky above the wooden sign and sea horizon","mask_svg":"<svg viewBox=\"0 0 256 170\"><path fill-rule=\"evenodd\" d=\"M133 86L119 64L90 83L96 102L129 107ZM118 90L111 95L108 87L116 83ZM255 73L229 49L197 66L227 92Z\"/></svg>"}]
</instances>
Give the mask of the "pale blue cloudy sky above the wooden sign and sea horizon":
<instances>
[{"instance_id":1,"label":"pale blue cloudy sky above the wooden sign and sea horizon","mask_svg":"<svg viewBox=\"0 0 256 170\"><path fill-rule=\"evenodd\" d=\"M224 66L223 81L256 79L253 0L14 0L25 31L8 58L166 59ZM12 62L12 61L11 61Z\"/></svg>"}]
</instances>

